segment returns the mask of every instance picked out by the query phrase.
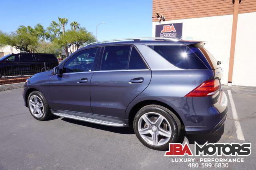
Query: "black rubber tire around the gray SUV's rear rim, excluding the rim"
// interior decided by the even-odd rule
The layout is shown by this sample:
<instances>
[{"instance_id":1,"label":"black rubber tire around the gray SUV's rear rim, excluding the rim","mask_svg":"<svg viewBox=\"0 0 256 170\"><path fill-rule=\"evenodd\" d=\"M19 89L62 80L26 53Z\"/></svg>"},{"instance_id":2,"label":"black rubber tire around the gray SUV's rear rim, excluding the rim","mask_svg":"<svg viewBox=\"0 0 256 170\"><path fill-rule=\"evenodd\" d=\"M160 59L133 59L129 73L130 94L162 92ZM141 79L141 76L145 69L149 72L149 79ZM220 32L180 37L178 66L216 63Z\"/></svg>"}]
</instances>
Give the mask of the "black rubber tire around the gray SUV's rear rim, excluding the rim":
<instances>
[{"instance_id":1,"label":"black rubber tire around the gray SUV's rear rim, excluding the rim","mask_svg":"<svg viewBox=\"0 0 256 170\"><path fill-rule=\"evenodd\" d=\"M171 137L170 137L169 141L166 142L164 145L161 145L161 146L151 145L150 143L144 141L144 139L142 139L142 136L139 133L138 121L142 115L144 115L145 113L149 113L149 112L154 112L154 113L158 113L158 114L162 115L170 124L170 128L172 130ZM168 150L169 143L175 143L178 140L180 133L181 133L181 123L180 123L180 120L178 119L178 117L169 109L167 109L163 106L159 106L159 105L148 105L148 106L142 107L136 113L136 115L134 117L133 128L134 128L134 132L135 132L137 138L140 140L140 142L143 145L145 145L146 147L148 147L150 149L154 149L154 150ZM166 141L167 140L168 139L166 139Z\"/></svg>"}]
</instances>

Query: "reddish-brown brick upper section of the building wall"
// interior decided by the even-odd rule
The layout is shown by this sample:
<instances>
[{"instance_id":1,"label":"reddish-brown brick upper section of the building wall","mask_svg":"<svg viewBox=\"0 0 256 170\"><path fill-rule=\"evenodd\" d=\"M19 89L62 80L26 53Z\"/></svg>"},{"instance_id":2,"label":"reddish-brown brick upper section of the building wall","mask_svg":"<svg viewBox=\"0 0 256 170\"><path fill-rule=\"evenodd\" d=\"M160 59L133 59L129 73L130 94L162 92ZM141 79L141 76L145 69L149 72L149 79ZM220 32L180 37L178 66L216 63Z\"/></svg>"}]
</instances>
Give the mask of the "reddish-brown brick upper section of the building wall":
<instances>
[{"instance_id":1,"label":"reddish-brown brick upper section of the building wall","mask_svg":"<svg viewBox=\"0 0 256 170\"><path fill-rule=\"evenodd\" d=\"M152 20L156 12L168 20L222 16L233 14L232 0L153 0ZM239 13L256 12L256 0L242 0Z\"/></svg>"}]
</instances>

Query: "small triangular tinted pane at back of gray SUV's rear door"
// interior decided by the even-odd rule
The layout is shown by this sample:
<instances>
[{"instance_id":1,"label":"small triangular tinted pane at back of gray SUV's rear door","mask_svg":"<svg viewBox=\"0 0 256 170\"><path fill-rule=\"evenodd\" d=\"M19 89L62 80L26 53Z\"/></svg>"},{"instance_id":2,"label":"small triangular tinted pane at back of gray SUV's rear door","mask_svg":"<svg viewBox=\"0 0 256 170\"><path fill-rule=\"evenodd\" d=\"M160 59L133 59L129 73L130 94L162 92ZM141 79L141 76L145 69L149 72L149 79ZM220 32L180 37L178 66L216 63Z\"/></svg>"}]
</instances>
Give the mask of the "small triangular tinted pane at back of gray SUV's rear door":
<instances>
[{"instance_id":1,"label":"small triangular tinted pane at back of gray SUV's rear door","mask_svg":"<svg viewBox=\"0 0 256 170\"><path fill-rule=\"evenodd\" d=\"M146 65L143 62L142 58L138 51L132 47L132 52L129 61L129 69L145 69Z\"/></svg>"}]
</instances>

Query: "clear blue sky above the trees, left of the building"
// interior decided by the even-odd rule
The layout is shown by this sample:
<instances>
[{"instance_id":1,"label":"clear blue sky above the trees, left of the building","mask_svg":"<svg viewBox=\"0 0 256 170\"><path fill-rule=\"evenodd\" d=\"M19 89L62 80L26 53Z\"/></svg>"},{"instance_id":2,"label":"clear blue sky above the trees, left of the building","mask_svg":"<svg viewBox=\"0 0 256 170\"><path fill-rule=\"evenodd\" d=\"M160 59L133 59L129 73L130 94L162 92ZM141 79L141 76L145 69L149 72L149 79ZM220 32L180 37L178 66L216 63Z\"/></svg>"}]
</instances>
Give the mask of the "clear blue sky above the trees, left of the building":
<instances>
[{"instance_id":1,"label":"clear blue sky above the trees, left of the building","mask_svg":"<svg viewBox=\"0 0 256 170\"><path fill-rule=\"evenodd\" d=\"M0 30L36 23L46 27L52 20L68 18L96 35L98 40L152 37L152 0L0 0Z\"/></svg>"}]
</instances>

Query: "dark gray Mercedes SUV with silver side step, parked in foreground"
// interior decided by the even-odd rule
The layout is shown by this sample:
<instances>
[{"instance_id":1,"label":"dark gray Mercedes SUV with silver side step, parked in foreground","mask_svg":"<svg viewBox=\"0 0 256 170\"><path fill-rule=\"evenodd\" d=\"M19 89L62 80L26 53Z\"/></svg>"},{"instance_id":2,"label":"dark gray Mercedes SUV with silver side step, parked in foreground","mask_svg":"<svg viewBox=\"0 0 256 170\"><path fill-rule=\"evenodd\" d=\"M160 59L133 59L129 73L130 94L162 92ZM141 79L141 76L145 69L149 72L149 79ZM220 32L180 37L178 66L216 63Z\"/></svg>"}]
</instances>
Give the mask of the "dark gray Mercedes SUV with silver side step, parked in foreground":
<instances>
[{"instance_id":1,"label":"dark gray Mercedes SUV with silver side step, parked in foreground","mask_svg":"<svg viewBox=\"0 0 256 170\"><path fill-rule=\"evenodd\" d=\"M108 126L132 126L151 149L186 133L213 133L227 117L220 61L200 41L136 38L96 42L26 81L25 106Z\"/></svg>"}]
</instances>

